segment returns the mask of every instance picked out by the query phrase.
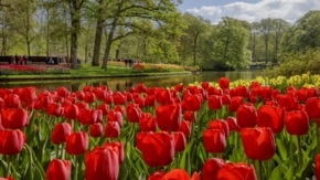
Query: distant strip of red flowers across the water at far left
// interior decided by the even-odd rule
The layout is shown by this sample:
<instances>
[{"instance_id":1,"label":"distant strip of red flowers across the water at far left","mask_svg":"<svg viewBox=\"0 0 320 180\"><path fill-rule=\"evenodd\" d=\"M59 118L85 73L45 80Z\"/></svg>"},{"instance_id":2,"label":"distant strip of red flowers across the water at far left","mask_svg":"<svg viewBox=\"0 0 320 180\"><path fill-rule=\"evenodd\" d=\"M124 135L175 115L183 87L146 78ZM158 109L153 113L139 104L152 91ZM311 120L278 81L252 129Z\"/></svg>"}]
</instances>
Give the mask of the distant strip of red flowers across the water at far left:
<instances>
[{"instance_id":1,"label":"distant strip of red flowers across the water at far left","mask_svg":"<svg viewBox=\"0 0 320 180\"><path fill-rule=\"evenodd\" d=\"M70 68L60 65L1 64L0 75L70 74Z\"/></svg>"}]
</instances>

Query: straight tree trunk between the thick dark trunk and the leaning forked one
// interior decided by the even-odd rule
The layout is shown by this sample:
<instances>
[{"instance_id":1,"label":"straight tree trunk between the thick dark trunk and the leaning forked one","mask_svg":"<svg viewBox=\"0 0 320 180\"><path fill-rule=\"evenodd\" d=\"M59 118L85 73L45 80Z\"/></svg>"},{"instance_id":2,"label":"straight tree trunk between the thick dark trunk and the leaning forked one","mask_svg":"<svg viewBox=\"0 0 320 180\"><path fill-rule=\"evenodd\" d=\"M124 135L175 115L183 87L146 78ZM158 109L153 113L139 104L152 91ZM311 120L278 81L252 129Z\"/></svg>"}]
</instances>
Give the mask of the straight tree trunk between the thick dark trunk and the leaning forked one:
<instances>
[{"instance_id":1,"label":"straight tree trunk between the thick dark trunk and the leaning forked one","mask_svg":"<svg viewBox=\"0 0 320 180\"><path fill-rule=\"evenodd\" d=\"M99 4L102 6L104 1L105 0L99 0ZM103 13L103 9L99 9L99 13ZM95 47L94 47L94 55L93 55L93 66L99 66L104 22L105 20L103 18L97 19Z\"/></svg>"}]
</instances>

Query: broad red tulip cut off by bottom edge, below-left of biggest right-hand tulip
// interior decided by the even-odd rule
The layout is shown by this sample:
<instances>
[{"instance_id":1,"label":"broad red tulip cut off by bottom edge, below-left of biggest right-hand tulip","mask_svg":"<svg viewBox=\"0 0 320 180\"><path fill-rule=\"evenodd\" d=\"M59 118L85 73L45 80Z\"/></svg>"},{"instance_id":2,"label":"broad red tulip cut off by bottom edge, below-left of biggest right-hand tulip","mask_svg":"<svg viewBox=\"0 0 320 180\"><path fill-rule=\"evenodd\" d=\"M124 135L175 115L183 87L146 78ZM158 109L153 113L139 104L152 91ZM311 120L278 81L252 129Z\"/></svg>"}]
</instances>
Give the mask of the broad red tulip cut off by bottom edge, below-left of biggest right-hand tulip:
<instances>
[{"instance_id":1,"label":"broad red tulip cut off by bottom edge, below-left of biggest right-hand tulip","mask_svg":"<svg viewBox=\"0 0 320 180\"><path fill-rule=\"evenodd\" d=\"M226 163L218 170L217 180L257 180L257 176L253 165Z\"/></svg>"}]
</instances>

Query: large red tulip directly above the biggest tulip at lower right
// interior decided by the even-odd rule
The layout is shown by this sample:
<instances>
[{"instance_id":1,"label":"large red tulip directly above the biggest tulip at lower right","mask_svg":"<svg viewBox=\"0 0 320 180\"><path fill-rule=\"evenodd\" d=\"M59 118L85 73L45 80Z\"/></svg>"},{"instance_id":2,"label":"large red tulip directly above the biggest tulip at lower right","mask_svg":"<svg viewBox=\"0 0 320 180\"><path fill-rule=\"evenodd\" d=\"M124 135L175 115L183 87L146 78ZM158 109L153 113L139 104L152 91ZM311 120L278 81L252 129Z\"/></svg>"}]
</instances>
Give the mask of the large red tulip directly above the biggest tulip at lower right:
<instances>
[{"instance_id":1,"label":"large red tulip directly above the biggest tulip at lower right","mask_svg":"<svg viewBox=\"0 0 320 180\"><path fill-rule=\"evenodd\" d=\"M257 124L258 127L269 127L274 134L281 133L285 125L285 109L268 105L260 106Z\"/></svg>"}]
</instances>

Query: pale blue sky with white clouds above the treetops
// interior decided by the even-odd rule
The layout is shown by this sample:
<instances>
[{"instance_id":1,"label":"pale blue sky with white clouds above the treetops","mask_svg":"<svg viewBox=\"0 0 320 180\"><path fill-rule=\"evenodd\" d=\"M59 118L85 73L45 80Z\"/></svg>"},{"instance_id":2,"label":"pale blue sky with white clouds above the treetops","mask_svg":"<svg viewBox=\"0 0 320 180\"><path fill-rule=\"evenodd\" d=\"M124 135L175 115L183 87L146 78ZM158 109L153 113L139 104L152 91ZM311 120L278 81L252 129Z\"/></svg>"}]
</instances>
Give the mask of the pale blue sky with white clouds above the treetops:
<instances>
[{"instance_id":1,"label":"pale blue sky with white clouds above the treetops","mask_svg":"<svg viewBox=\"0 0 320 180\"><path fill-rule=\"evenodd\" d=\"M213 24L222 17L248 22L280 18L295 23L309 10L320 10L320 0L183 0L178 9L209 19Z\"/></svg>"}]
</instances>

